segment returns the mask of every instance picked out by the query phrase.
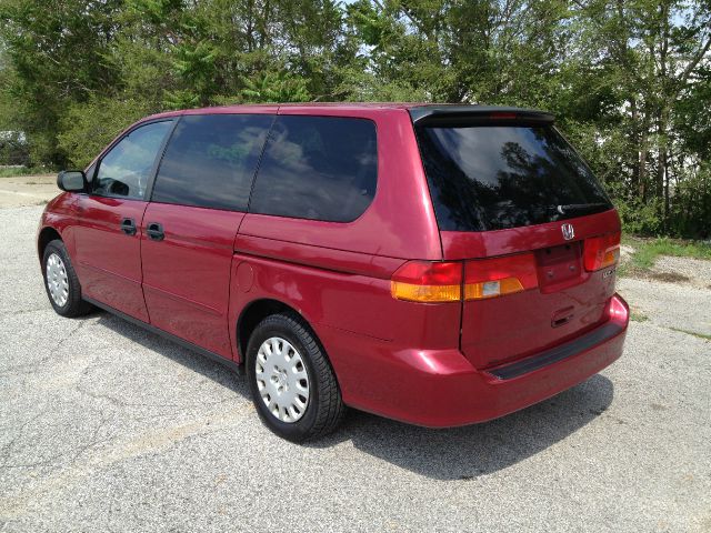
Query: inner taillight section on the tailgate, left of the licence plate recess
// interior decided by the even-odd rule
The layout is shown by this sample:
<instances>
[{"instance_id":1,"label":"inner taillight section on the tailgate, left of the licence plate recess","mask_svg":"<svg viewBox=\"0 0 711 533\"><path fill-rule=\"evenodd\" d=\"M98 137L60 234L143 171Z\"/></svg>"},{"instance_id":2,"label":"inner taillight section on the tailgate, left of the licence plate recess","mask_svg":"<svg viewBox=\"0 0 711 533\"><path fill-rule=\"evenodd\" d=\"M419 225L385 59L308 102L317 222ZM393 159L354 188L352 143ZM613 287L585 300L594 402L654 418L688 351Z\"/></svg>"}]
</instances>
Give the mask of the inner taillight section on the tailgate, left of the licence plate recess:
<instances>
[{"instance_id":1,"label":"inner taillight section on the tailgate, left of the licence plate recess","mask_svg":"<svg viewBox=\"0 0 711 533\"><path fill-rule=\"evenodd\" d=\"M464 266L464 300L495 298L535 286L538 275L532 253L467 261Z\"/></svg>"}]
</instances>

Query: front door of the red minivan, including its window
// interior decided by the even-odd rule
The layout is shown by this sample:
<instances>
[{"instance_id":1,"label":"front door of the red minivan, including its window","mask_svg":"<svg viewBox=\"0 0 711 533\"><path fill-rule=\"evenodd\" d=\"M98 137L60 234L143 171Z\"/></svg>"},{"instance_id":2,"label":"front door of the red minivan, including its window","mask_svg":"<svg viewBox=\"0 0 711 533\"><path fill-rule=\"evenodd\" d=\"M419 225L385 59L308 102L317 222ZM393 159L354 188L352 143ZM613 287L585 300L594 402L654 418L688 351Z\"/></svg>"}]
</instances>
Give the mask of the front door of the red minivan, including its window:
<instances>
[{"instance_id":1,"label":"front door of the red minivan, including its window","mask_svg":"<svg viewBox=\"0 0 711 533\"><path fill-rule=\"evenodd\" d=\"M77 272L86 296L149 321L141 290L146 191L171 120L140 125L101 159L77 204ZM90 177L92 178L92 177Z\"/></svg>"}]
</instances>

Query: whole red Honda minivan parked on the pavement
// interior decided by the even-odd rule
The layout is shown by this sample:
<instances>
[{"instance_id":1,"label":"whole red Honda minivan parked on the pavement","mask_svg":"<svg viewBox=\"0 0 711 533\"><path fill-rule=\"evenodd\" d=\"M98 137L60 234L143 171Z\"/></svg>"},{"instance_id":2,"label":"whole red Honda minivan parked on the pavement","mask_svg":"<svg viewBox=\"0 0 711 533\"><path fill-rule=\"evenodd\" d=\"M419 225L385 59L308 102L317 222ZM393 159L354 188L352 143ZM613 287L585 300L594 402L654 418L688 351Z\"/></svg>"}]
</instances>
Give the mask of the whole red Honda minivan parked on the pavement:
<instances>
[{"instance_id":1,"label":"whole red Honda minivan parked on the pavement","mask_svg":"<svg viewBox=\"0 0 711 533\"><path fill-rule=\"evenodd\" d=\"M620 220L544 112L169 112L58 185L38 233L54 310L102 308L246 372L292 441L346 405L483 422L622 353Z\"/></svg>"}]
</instances>

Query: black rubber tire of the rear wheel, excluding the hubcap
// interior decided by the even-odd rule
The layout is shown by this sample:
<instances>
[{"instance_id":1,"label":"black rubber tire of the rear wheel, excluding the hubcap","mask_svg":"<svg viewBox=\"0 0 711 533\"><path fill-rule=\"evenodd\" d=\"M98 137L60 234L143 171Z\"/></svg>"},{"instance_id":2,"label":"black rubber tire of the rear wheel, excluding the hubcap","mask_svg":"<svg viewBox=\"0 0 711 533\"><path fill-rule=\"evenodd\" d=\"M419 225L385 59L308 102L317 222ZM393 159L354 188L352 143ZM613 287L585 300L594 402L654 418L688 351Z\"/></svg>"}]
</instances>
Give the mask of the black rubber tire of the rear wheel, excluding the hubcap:
<instances>
[{"instance_id":1,"label":"black rubber tire of the rear wheel, excluding the hubcap","mask_svg":"<svg viewBox=\"0 0 711 533\"><path fill-rule=\"evenodd\" d=\"M272 414L257 384L257 354L262 343L273 336L284 339L299 352L309 379L309 401L294 422L283 422ZM333 369L314 333L296 314L272 314L257 325L247 346L247 378L260 419L283 439L291 442L318 439L336 430L343 420L346 405Z\"/></svg>"}]
</instances>

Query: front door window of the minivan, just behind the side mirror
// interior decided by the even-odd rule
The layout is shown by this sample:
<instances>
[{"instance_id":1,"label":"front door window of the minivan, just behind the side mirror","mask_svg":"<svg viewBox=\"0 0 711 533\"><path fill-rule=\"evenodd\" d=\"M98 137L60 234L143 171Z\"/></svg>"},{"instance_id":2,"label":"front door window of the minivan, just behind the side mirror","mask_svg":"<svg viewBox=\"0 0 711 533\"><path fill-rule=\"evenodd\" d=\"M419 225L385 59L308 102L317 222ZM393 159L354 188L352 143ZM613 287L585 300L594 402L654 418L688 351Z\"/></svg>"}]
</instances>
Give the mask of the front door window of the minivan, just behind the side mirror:
<instances>
[{"instance_id":1,"label":"front door window of the minivan, just behind the side mirror","mask_svg":"<svg viewBox=\"0 0 711 533\"><path fill-rule=\"evenodd\" d=\"M152 122L131 131L99 164L92 193L142 200L158 150L172 121Z\"/></svg>"}]
</instances>

